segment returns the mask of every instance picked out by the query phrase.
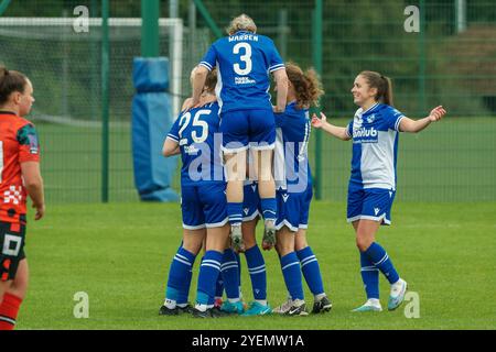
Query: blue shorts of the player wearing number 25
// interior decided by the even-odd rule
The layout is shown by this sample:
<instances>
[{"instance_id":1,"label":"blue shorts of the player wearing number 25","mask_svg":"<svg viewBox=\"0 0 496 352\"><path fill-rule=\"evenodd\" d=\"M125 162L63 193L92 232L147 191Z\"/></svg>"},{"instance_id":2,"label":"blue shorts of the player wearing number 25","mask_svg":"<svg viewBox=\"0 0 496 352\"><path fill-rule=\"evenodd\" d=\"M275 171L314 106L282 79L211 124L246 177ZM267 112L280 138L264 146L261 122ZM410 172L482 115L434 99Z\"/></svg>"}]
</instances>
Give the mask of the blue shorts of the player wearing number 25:
<instances>
[{"instance_id":1,"label":"blue shorts of the player wearing number 25","mask_svg":"<svg viewBox=\"0 0 496 352\"><path fill-rule=\"evenodd\" d=\"M227 223L225 183L206 183L181 187L183 228L200 230L218 228Z\"/></svg>"}]
</instances>

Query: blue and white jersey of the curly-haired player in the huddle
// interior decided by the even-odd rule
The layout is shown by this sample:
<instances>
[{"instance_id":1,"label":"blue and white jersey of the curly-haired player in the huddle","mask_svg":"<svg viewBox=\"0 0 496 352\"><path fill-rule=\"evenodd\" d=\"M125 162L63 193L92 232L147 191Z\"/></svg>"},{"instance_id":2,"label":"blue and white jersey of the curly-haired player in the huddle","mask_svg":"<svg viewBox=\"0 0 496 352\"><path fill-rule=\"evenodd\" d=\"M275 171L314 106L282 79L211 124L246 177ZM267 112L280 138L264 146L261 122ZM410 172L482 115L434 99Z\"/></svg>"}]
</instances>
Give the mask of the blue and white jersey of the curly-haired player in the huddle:
<instances>
[{"instance_id":1,"label":"blue and white jersey of the curly-haired player in the huddle","mask_svg":"<svg viewBox=\"0 0 496 352\"><path fill-rule=\"evenodd\" d=\"M274 179L278 189L303 193L312 187L309 163L310 117L295 102L276 113Z\"/></svg>"}]
</instances>

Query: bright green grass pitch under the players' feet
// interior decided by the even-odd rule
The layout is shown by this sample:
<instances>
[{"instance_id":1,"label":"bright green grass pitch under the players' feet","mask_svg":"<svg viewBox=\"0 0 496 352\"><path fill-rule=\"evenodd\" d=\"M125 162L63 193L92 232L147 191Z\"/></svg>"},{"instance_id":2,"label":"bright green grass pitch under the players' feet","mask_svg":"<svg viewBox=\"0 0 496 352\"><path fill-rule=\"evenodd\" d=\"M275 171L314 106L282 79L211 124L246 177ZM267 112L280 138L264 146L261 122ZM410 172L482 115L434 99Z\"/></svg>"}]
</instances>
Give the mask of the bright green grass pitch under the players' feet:
<instances>
[{"instance_id":1,"label":"bright green grass pitch under the players' feet","mask_svg":"<svg viewBox=\"0 0 496 352\"><path fill-rule=\"evenodd\" d=\"M379 231L378 242L410 290L418 293L419 318L405 316L410 302L393 312L351 312L365 295L345 204L315 201L309 241L333 310L309 317L197 320L158 316L169 265L181 241L179 205L48 205L46 218L31 220L28 227L31 283L18 329L495 329L495 209L494 202L395 204L392 226ZM276 306L285 298L284 284L276 253L263 255L268 299ZM242 256L241 265L242 293L249 300ZM195 287L196 275L191 300ZM78 292L88 294L88 319L74 317ZM384 307L388 292L381 277ZM313 297L306 286L305 295L311 306Z\"/></svg>"}]
</instances>

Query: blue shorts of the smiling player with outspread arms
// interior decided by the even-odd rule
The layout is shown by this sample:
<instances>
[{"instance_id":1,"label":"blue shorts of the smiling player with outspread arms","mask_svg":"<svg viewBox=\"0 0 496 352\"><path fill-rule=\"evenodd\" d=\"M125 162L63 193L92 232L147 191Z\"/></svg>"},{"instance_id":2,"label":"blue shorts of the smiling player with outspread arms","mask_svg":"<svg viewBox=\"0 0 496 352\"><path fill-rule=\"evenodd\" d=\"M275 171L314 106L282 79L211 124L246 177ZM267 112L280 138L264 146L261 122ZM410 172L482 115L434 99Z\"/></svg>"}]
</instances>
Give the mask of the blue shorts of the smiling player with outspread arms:
<instances>
[{"instance_id":1,"label":"blue shorts of the smiling player with outspread arms","mask_svg":"<svg viewBox=\"0 0 496 352\"><path fill-rule=\"evenodd\" d=\"M375 220L391 224L391 207L396 191L384 188L348 188L347 221Z\"/></svg>"}]
</instances>

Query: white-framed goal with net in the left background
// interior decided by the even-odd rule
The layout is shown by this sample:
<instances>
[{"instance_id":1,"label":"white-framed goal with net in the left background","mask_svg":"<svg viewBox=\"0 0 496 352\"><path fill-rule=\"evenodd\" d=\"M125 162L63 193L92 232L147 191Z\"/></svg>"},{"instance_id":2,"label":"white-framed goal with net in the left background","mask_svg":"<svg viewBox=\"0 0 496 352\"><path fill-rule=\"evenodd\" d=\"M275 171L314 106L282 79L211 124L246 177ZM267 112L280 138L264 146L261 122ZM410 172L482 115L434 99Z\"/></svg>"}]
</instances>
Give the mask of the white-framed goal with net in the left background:
<instances>
[{"instance_id":1,"label":"white-framed goal with net in the left background","mask_svg":"<svg viewBox=\"0 0 496 352\"><path fill-rule=\"evenodd\" d=\"M0 18L0 63L32 78L31 118L56 123L98 121L101 107L101 19L77 33L76 18ZM191 94L190 70L208 47L208 35L184 41L182 19L160 19L160 56L170 61L173 111ZM202 33L203 34L203 33ZM109 19L109 103L112 122L130 120L132 61L141 55L141 19ZM184 55L186 53L186 55ZM77 122L80 120L79 122Z\"/></svg>"}]
</instances>

